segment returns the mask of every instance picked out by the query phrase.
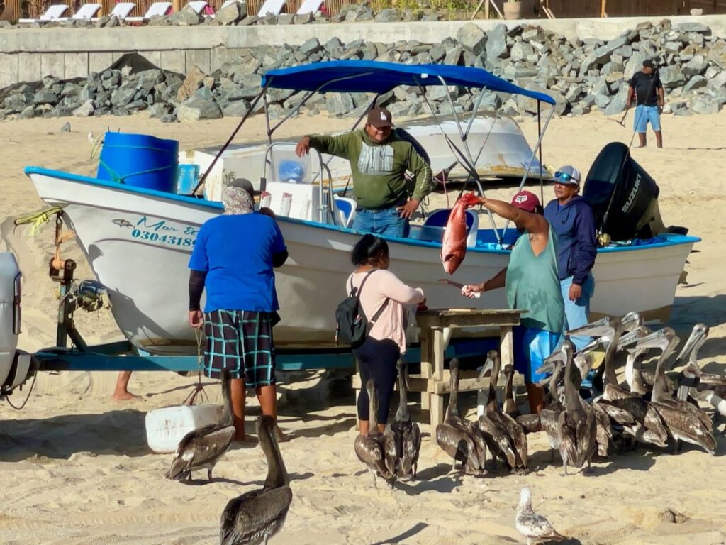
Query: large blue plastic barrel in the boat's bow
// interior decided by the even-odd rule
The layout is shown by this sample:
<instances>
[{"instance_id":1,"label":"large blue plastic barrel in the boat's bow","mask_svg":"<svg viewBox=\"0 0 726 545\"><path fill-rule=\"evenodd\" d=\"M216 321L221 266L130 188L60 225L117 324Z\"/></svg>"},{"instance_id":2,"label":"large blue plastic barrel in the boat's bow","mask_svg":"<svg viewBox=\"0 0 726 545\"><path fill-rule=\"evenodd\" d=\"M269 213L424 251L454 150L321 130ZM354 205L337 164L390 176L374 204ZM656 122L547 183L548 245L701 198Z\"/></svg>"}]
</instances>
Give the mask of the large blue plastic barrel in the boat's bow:
<instances>
[{"instance_id":1,"label":"large blue plastic barrel in the boat's bow","mask_svg":"<svg viewBox=\"0 0 726 545\"><path fill-rule=\"evenodd\" d=\"M148 134L107 132L98 164L99 179L174 193L179 142Z\"/></svg>"}]
</instances>

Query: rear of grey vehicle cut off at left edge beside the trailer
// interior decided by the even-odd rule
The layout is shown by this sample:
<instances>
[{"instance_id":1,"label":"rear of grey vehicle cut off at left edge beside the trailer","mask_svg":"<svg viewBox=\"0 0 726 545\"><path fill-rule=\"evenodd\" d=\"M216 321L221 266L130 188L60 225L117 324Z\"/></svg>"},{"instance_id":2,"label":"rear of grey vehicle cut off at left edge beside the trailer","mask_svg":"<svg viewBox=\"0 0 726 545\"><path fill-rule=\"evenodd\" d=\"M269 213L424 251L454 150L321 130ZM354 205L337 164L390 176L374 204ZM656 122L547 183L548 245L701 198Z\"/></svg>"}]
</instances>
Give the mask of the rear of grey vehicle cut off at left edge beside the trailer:
<instances>
[{"instance_id":1,"label":"rear of grey vehicle cut off at left edge beside the trailer","mask_svg":"<svg viewBox=\"0 0 726 545\"><path fill-rule=\"evenodd\" d=\"M17 350L20 336L20 268L15 256L0 251L0 397L23 384L30 354Z\"/></svg>"}]
</instances>

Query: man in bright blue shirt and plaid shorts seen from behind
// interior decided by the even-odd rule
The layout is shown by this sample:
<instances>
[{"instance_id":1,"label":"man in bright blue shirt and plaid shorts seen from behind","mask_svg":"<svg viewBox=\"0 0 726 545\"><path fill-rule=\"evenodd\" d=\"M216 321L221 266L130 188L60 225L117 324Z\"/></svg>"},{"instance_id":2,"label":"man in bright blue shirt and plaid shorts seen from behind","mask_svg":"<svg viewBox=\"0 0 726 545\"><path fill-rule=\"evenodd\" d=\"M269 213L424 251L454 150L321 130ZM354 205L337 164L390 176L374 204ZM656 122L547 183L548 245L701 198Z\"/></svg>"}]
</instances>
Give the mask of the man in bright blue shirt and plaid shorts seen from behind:
<instances>
[{"instance_id":1,"label":"man in bright blue shirt and plaid shorts seen from behind","mask_svg":"<svg viewBox=\"0 0 726 545\"><path fill-rule=\"evenodd\" d=\"M274 218L253 211L248 180L225 187L222 203L224 214L204 222L189 259L189 325L204 328L205 375L229 371L235 439L242 441L245 387L256 390L263 414L277 418L272 327L280 305L273 267L285 263L287 248ZM277 435L287 440L279 428Z\"/></svg>"}]
</instances>

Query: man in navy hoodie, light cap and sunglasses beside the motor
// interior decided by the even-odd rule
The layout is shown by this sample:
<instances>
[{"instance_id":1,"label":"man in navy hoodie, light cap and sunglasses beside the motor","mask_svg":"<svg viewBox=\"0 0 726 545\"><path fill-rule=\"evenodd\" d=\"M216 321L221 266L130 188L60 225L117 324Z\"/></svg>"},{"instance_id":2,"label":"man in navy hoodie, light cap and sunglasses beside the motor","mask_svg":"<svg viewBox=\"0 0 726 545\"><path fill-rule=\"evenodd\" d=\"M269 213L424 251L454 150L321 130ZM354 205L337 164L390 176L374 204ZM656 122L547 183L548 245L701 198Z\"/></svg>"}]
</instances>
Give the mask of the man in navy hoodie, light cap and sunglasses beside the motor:
<instances>
[{"instance_id":1,"label":"man in navy hoodie, light cap and sunglasses beside the motor","mask_svg":"<svg viewBox=\"0 0 726 545\"><path fill-rule=\"evenodd\" d=\"M590 298L595 293L595 216L590 204L578 195L581 180L574 166L563 166L555 172L556 198L544 207L544 217L558 238L557 266L565 300L565 331L590 321ZM580 350L590 339L573 337L571 341Z\"/></svg>"}]
</instances>

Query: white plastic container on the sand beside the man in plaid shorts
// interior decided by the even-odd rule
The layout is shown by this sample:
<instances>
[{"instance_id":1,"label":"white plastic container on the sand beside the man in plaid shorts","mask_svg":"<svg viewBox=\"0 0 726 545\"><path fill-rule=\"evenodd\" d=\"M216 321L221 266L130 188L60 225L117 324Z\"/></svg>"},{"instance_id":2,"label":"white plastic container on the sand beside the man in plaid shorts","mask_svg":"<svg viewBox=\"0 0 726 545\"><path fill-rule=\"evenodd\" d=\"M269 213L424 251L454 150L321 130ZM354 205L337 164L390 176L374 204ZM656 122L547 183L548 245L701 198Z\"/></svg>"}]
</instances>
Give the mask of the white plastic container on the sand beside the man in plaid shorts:
<instances>
[{"instance_id":1,"label":"white plastic container on the sand beside the man in plaid shorts","mask_svg":"<svg viewBox=\"0 0 726 545\"><path fill-rule=\"evenodd\" d=\"M221 418L222 408L214 403L154 409L146 414L146 440L156 453L175 452L181 437Z\"/></svg>"}]
</instances>

